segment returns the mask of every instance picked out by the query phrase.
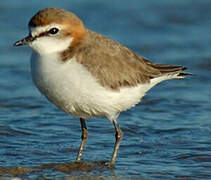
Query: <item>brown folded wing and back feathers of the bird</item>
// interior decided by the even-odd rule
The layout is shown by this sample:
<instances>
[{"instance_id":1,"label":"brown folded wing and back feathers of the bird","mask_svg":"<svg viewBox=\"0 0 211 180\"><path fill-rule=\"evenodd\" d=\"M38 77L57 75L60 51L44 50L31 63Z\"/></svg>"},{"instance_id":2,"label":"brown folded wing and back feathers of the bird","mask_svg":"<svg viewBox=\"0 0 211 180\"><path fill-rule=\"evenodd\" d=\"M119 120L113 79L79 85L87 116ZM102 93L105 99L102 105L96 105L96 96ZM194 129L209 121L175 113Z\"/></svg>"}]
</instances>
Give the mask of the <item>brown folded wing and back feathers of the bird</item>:
<instances>
[{"instance_id":1,"label":"brown folded wing and back feathers of the bird","mask_svg":"<svg viewBox=\"0 0 211 180\"><path fill-rule=\"evenodd\" d=\"M76 53L77 61L104 87L118 90L122 86L148 83L153 77L184 69L181 66L153 64L109 38L90 30L87 33L83 43L72 50L72 55Z\"/></svg>"}]
</instances>

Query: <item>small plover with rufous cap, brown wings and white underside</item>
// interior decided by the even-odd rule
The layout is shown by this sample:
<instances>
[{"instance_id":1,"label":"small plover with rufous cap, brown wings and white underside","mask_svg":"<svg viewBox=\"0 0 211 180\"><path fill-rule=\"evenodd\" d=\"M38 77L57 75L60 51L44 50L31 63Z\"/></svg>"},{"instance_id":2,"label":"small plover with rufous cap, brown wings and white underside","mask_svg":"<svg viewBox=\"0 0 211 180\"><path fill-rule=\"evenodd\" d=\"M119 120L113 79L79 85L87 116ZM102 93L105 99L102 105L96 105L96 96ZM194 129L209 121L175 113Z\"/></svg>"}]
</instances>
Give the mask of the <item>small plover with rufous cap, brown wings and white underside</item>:
<instances>
[{"instance_id":1,"label":"small plover with rufous cap, brown wings and white underside","mask_svg":"<svg viewBox=\"0 0 211 180\"><path fill-rule=\"evenodd\" d=\"M119 114L138 103L156 84L187 75L187 68L157 64L85 27L74 13L49 7L28 23L29 35L14 43L32 48L31 75L38 90L64 112L80 119L81 162L87 119L106 117L115 129L109 164L114 166L123 137Z\"/></svg>"}]
</instances>

